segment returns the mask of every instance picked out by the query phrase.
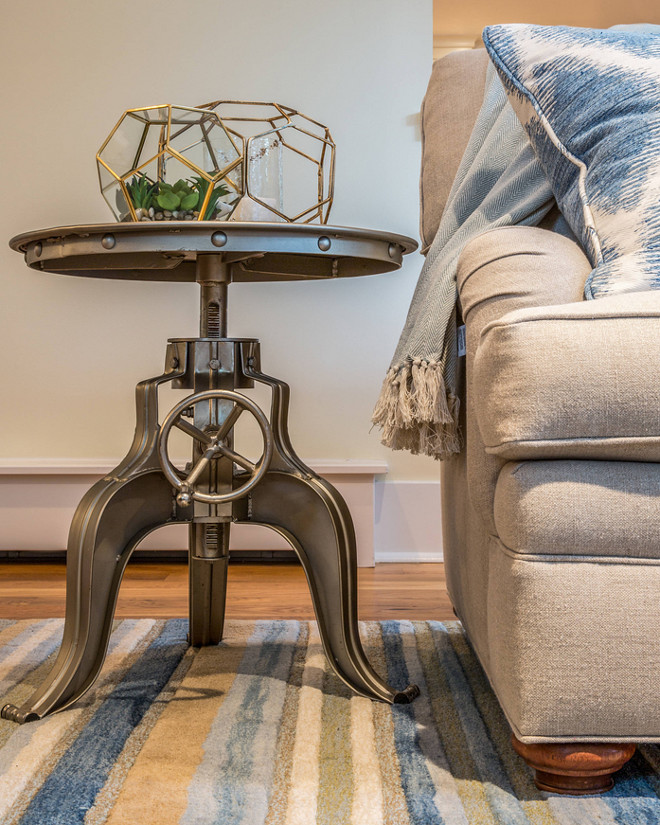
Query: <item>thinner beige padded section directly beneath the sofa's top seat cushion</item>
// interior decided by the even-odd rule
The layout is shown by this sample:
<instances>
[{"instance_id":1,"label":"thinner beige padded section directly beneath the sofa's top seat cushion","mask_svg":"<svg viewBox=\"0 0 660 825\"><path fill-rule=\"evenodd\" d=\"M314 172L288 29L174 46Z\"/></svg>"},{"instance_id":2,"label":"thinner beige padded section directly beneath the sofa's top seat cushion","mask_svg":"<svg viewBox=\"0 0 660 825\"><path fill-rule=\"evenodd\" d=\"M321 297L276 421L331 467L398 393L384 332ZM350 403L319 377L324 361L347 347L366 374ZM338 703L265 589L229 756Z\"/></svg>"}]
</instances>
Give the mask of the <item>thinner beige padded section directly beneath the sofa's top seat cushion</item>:
<instances>
[{"instance_id":1,"label":"thinner beige padded section directly beneath the sofa's top seat cushion","mask_svg":"<svg viewBox=\"0 0 660 825\"><path fill-rule=\"evenodd\" d=\"M495 525L514 553L660 560L660 464L509 462Z\"/></svg>"}]
</instances>

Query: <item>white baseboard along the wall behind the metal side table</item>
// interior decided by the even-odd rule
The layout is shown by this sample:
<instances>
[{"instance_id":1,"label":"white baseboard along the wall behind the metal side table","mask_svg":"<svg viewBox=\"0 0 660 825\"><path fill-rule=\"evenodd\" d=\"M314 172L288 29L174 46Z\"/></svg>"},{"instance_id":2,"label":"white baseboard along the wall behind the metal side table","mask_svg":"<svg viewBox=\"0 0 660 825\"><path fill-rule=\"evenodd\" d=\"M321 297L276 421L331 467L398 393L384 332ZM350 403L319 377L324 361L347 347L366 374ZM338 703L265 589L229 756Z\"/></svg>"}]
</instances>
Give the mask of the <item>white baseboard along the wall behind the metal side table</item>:
<instances>
[{"instance_id":1,"label":"white baseboard along the wall behind the metal side table","mask_svg":"<svg viewBox=\"0 0 660 825\"><path fill-rule=\"evenodd\" d=\"M0 459L0 551L63 550L74 510L110 459ZM439 481L378 481L383 461L308 459L344 497L353 517L358 565L442 561ZM141 550L183 550L186 525L156 530ZM233 550L288 550L273 530L233 525Z\"/></svg>"}]
</instances>

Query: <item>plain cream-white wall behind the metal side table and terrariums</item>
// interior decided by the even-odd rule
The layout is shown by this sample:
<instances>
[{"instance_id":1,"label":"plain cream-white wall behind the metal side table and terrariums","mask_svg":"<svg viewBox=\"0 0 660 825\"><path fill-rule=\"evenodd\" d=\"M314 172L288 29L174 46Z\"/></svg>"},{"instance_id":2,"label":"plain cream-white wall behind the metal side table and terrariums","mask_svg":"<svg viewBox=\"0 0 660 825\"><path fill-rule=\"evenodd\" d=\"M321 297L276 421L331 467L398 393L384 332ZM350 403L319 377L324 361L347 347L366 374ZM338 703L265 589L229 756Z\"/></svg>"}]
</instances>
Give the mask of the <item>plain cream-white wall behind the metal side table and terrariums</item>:
<instances>
[{"instance_id":1,"label":"plain cream-white wall behind the metal side table and terrariums","mask_svg":"<svg viewBox=\"0 0 660 825\"><path fill-rule=\"evenodd\" d=\"M168 336L197 332L194 285L40 275L6 246L111 220L94 156L125 109L297 107L338 145L330 222L417 237L432 0L22 0L3 35L0 456L122 456L134 384L161 371ZM384 458L388 478L437 478L434 462L370 433L420 266L415 254L392 275L230 290L230 334L260 337L264 368L293 387L303 457Z\"/></svg>"}]
</instances>

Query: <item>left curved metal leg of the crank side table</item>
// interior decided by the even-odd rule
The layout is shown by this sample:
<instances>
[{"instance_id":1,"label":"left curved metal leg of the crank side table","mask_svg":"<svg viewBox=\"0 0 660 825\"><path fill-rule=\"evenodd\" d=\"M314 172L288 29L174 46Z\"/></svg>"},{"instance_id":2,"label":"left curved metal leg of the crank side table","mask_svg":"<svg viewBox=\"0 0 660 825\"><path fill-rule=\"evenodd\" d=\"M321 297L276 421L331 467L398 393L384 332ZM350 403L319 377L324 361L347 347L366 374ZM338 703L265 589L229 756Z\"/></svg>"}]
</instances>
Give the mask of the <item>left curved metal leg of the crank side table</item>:
<instances>
[{"instance_id":1,"label":"left curved metal leg of the crank side table","mask_svg":"<svg viewBox=\"0 0 660 825\"><path fill-rule=\"evenodd\" d=\"M108 648L126 563L137 543L172 517L172 487L157 470L103 479L83 497L67 549L64 638L52 671L22 707L2 716L30 722L63 710L94 683Z\"/></svg>"}]
</instances>

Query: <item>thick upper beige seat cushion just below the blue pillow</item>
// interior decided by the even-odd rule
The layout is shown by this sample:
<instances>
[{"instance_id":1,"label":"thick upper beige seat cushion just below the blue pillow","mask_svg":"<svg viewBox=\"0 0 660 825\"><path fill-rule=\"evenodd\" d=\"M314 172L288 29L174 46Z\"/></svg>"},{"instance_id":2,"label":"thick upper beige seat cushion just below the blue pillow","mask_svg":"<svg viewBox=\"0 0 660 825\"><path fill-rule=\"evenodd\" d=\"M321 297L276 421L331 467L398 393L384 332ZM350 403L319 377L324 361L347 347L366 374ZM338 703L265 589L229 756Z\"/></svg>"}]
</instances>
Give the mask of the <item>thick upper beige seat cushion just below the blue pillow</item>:
<instances>
[{"instance_id":1,"label":"thick upper beige seat cushion just below the blue pillow","mask_svg":"<svg viewBox=\"0 0 660 825\"><path fill-rule=\"evenodd\" d=\"M486 452L660 461L660 293L516 310L474 362Z\"/></svg>"}]
</instances>

